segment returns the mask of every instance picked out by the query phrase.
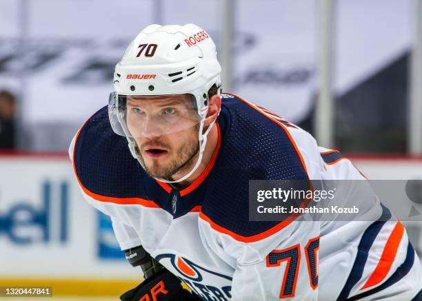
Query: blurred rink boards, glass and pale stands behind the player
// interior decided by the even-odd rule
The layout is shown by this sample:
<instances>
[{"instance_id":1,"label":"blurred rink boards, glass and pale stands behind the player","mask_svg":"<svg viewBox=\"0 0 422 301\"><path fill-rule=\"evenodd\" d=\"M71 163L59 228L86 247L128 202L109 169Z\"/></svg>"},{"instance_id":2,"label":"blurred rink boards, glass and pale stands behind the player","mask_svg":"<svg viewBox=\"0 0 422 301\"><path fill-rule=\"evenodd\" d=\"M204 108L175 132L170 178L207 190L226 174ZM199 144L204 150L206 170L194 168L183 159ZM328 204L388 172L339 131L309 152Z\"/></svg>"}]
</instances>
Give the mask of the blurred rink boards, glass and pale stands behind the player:
<instances>
[{"instance_id":1,"label":"blurred rink boards, glass and pale stands behind the player","mask_svg":"<svg viewBox=\"0 0 422 301\"><path fill-rule=\"evenodd\" d=\"M223 91L297 123L368 178L422 178L421 0L1 0L0 286L73 300L141 279L66 152L151 23L204 28ZM405 222L419 254L421 224Z\"/></svg>"}]
</instances>

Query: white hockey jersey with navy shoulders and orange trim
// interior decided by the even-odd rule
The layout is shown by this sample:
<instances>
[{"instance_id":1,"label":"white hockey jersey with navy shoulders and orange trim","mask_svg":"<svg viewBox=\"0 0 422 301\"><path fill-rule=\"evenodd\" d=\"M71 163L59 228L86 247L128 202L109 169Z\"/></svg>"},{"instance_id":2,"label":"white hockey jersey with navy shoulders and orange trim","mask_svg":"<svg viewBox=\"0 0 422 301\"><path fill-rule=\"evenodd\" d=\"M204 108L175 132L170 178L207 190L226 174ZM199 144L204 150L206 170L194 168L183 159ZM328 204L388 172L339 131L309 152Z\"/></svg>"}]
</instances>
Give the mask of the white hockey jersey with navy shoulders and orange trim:
<instances>
[{"instance_id":1,"label":"white hockey jersey with navy shoulders and orange trim","mask_svg":"<svg viewBox=\"0 0 422 301\"><path fill-rule=\"evenodd\" d=\"M376 196L367 222L249 221L249 180L365 178L299 127L239 96L222 100L217 149L180 191L143 171L107 107L81 127L70 145L76 178L121 249L143 245L203 300L412 300L419 259Z\"/></svg>"}]
</instances>

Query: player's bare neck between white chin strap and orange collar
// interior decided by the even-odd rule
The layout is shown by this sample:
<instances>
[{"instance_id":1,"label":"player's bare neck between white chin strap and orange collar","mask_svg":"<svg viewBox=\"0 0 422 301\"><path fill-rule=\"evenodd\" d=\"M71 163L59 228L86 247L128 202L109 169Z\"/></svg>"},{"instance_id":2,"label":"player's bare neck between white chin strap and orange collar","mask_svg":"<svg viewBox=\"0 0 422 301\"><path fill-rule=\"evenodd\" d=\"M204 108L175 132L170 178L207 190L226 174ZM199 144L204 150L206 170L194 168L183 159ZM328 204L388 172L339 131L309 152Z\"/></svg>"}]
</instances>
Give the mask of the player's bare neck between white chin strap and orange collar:
<instances>
[{"instance_id":1,"label":"player's bare neck between white chin strap and orange collar","mask_svg":"<svg viewBox=\"0 0 422 301\"><path fill-rule=\"evenodd\" d=\"M173 186L177 189L184 189L185 187L188 187L194 180L196 180L199 176L201 176L202 172L205 170L205 168L208 166L208 163L210 163L210 160L212 158L212 155L215 152L215 148L217 147L217 141L218 141L218 132L217 132L217 125L213 125L212 129L210 130L210 133L208 133L207 136L207 144L205 145L205 149L203 150L202 160L199 164L198 168L194 171L193 174L189 176L186 180L183 180L179 183L173 183ZM192 160L192 167L197 163L199 154L197 154L193 160ZM185 175L183 174L174 174L173 178L181 178Z\"/></svg>"}]
</instances>

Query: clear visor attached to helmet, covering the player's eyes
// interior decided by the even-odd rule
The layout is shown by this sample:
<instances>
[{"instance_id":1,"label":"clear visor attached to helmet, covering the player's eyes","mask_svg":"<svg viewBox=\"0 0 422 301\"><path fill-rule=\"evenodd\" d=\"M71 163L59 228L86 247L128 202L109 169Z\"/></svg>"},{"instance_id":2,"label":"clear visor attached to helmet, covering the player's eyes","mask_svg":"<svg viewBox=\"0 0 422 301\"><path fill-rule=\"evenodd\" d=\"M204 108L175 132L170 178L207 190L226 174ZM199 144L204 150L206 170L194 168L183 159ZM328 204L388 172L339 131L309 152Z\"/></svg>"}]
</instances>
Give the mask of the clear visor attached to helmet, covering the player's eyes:
<instances>
[{"instance_id":1,"label":"clear visor attached to helmet, covering the player's eyes","mask_svg":"<svg viewBox=\"0 0 422 301\"><path fill-rule=\"evenodd\" d=\"M192 94L126 96L112 92L108 114L114 132L132 138L182 132L201 123Z\"/></svg>"}]
</instances>

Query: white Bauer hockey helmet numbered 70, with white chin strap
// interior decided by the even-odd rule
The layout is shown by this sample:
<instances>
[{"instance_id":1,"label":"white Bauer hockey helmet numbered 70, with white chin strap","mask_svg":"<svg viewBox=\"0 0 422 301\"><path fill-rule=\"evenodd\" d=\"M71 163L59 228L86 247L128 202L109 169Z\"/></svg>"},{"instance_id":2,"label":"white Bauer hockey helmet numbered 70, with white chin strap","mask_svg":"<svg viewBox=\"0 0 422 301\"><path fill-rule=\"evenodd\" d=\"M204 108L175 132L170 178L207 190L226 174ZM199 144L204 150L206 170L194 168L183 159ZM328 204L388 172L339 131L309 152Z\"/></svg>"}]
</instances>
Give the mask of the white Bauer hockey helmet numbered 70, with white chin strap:
<instances>
[{"instance_id":1,"label":"white Bauer hockey helmet numbered 70, with white chin strap","mask_svg":"<svg viewBox=\"0 0 422 301\"><path fill-rule=\"evenodd\" d=\"M214 41L194 24L157 25L145 28L130 43L114 71L114 92L110 94L108 112L116 134L125 136L130 152L143 166L134 135L125 121L125 99L130 96L163 96L190 94L196 102L194 110L199 123L199 158L194 168L176 183L188 178L199 166L207 140L203 121L208 112L208 90L217 85L221 92L221 66L217 61ZM144 167L144 166L143 166ZM145 168L145 167L144 167Z\"/></svg>"}]
</instances>

